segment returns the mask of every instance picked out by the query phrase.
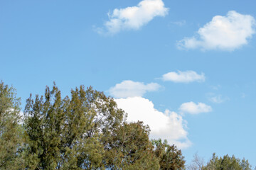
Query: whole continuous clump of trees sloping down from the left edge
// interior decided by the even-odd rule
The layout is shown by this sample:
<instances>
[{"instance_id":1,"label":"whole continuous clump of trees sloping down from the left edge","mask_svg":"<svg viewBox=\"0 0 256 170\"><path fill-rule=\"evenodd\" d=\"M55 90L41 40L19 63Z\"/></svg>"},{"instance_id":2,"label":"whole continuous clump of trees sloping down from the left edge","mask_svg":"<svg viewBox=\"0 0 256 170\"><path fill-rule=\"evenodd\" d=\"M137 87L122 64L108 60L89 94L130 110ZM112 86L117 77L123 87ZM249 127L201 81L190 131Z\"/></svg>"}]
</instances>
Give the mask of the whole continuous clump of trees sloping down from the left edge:
<instances>
[{"instance_id":1,"label":"whole continuous clump of trees sloping down from the left edge","mask_svg":"<svg viewBox=\"0 0 256 170\"><path fill-rule=\"evenodd\" d=\"M0 84L0 169L183 169L181 151L149 140L149 126L102 92L84 86L61 96L55 84L26 101Z\"/></svg>"}]
</instances>

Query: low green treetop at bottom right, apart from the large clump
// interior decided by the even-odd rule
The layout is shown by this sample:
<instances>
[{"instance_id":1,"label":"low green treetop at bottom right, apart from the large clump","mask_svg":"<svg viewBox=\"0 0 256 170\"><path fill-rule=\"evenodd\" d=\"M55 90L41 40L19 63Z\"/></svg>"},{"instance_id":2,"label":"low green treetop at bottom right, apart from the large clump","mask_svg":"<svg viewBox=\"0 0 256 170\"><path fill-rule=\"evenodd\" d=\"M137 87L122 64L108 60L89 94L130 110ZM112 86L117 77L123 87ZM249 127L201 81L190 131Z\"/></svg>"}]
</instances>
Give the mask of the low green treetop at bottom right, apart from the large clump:
<instances>
[{"instance_id":1,"label":"low green treetop at bottom right, apart from the large clump","mask_svg":"<svg viewBox=\"0 0 256 170\"><path fill-rule=\"evenodd\" d=\"M203 167L203 170L251 170L249 162L245 159L235 158L233 155L229 157L228 154L224 157L216 157L213 153L213 157L210 159L208 164Z\"/></svg>"}]
</instances>

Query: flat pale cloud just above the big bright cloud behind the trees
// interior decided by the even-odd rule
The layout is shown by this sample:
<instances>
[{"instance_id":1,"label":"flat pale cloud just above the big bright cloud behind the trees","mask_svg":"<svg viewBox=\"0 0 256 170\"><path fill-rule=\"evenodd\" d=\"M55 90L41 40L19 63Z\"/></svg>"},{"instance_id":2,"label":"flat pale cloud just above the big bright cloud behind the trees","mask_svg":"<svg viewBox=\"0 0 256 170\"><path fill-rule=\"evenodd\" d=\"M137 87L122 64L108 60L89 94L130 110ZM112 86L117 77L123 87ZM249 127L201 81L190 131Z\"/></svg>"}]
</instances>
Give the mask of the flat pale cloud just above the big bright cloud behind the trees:
<instances>
[{"instance_id":1,"label":"flat pale cloud just above the big bright cloud behind the trees","mask_svg":"<svg viewBox=\"0 0 256 170\"><path fill-rule=\"evenodd\" d=\"M146 91L156 91L160 88L159 84L150 83L144 84L142 82L135 82L131 80L124 80L120 84L111 87L109 92L114 98L127 98L134 96L143 96Z\"/></svg>"}]
</instances>

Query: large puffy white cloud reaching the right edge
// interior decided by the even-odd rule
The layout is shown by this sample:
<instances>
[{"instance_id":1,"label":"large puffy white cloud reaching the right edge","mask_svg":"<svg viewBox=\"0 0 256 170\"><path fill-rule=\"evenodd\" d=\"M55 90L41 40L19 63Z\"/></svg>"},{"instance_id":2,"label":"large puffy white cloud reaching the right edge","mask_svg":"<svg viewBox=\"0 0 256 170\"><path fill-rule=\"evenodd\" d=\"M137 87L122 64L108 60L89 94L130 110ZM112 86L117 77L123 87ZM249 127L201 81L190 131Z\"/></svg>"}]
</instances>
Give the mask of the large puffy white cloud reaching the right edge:
<instances>
[{"instance_id":1,"label":"large puffy white cloud reaching the right edge","mask_svg":"<svg viewBox=\"0 0 256 170\"><path fill-rule=\"evenodd\" d=\"M255 18L236 11L229 11L227 16L214 16L212 21L200 28L196 36L184 38L178 42L183 49L235 50L247 44L255 33Z\"/></svg>"}]
</instances>

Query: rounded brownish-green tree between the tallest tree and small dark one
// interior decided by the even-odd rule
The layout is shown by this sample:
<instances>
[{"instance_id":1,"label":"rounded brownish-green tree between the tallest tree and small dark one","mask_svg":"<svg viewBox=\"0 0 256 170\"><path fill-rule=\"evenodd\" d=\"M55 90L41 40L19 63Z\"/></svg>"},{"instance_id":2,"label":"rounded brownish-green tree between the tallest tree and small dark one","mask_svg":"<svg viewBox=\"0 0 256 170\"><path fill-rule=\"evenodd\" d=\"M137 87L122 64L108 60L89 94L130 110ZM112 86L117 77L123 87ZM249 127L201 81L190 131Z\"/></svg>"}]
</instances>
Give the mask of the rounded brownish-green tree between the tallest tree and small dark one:
<instances>
[{"instance_id":1,"label":"rounded brownish-green tree between the tallest tree and small dark one","mask_svg":"<svg viewBox=\"0 0 256 170\"><path fill-rule=\"evenodd\" d=\"M149 126L142 122L124 123L112 135L106 154L108 169L159 169L153 145L149 140Z\"/></svg>"}]
</instances>

